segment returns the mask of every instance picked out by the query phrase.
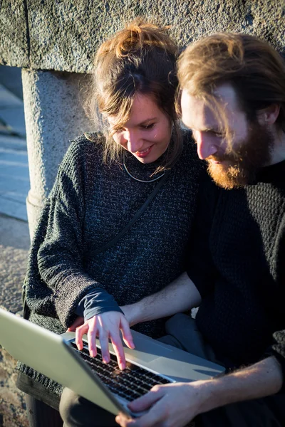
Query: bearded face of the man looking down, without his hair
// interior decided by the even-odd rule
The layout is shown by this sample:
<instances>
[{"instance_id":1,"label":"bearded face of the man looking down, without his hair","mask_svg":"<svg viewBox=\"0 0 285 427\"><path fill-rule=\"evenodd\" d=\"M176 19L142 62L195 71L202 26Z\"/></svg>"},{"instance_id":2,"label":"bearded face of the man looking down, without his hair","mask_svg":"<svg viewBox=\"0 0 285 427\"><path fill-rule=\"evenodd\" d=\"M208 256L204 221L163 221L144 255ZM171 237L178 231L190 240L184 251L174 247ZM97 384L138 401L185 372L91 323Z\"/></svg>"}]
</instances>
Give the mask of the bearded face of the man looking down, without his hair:
<instances>
[{"instance_id":1,"label":"bearded face of the man looking down, without his hair","mask_svg":"<svg viewBox=\"0 0 285 427\"><path fill-rule=\"evenodd\" d=\"M198 156L207 161L212 179L224 189L233 189L249 184L258 169L269 164L273 138L265 126L248 122L231 85L219 86L215 94L224 105L230 144L212 109L185 90L181 97L182 121L192 129Z\"/></svg>"}]
</instances>

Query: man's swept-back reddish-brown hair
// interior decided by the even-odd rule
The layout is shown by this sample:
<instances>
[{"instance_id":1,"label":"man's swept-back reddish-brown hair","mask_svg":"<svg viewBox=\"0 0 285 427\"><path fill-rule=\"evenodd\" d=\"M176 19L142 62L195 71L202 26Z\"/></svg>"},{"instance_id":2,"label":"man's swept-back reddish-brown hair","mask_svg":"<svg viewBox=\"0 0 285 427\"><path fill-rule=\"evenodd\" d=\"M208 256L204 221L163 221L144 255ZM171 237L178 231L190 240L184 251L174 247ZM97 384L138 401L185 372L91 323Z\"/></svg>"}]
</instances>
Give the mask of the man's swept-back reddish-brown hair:
<instances>
[{"instance_id":1,"label":"man's swept-back reddish-brown hair","mask_svg":"<svg viewBox=\"0 0 285 427\"><path fill-rule=\"evenodd\" d=\"M177 68L180 89L212 105L227 137L224 106L214 93L223 83L236 90L239 105L251 121L257 120L258 110L278 104L276 124L285 131L285 63L266 41L249 34L212 34L188 46Z\"/></svg>"}]
</instances>

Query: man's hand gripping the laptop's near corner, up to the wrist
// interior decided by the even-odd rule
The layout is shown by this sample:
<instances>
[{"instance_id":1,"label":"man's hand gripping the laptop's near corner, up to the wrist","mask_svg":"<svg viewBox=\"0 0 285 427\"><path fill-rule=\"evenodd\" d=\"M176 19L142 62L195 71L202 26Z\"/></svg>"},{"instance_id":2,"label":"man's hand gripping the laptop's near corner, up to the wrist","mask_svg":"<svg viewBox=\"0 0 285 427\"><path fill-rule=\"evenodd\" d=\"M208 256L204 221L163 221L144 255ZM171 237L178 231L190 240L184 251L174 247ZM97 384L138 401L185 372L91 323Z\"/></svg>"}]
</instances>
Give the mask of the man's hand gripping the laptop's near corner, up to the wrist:
<instances>
[{"instance_id":1,"label":"man's hand gripping the laptop's near corner, up to the wrist","mask_svg":"<svg viewBox=\"0 0 285 427\"><path fill-rule=\"evenodd\" d=\"M115 421L121 427L184 427L199 412L202 382L154 386L145 396L128 404L133 412L150 409L145 415L130 419L120 413Z\"/></svg>"}]
</instances>

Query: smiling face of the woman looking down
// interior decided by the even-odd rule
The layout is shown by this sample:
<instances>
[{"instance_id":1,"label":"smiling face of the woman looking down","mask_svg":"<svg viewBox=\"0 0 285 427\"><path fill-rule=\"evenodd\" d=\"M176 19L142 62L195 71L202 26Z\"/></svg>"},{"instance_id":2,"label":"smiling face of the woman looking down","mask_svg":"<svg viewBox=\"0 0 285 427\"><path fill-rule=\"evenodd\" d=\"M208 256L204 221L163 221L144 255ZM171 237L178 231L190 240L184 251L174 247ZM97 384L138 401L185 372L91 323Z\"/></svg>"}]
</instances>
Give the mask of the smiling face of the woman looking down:
<instances>
[{"instance_id":1,"label":"smiling face of the woman looking down","mask_svg":"<svg viewBox=\"0 0 285 427\"><path fill-rule=\"evenodd\" d=\"M110 128L115 117L109 116ZM155 162L170 143L172 125L164 112L157 107L150 95L135 95L128 122L115 132L117 144L132 153L140 162Z\"/></svg>"}]
</instances>

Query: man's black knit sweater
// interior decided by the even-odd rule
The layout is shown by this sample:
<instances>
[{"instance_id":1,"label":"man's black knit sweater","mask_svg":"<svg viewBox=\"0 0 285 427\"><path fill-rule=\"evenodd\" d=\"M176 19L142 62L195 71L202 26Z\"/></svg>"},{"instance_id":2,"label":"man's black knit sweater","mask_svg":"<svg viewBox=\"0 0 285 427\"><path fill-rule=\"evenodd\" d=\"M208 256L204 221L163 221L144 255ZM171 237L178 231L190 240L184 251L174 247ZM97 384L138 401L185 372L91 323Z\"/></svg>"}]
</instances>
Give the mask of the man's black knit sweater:
<instances>
[{"instance_id":1,"label":"man's black knit sweater","mask_svg":"<svg viewBox=\"0 0 285 427\"><path fill-rule=\"evenodd\" d=\"M197 326L229 366L264 354L284 365L285 161L244 189L206 181L187 267L202 295Z\"/></svg>"}]
</instances>

